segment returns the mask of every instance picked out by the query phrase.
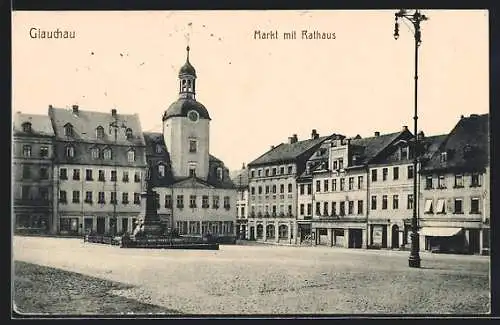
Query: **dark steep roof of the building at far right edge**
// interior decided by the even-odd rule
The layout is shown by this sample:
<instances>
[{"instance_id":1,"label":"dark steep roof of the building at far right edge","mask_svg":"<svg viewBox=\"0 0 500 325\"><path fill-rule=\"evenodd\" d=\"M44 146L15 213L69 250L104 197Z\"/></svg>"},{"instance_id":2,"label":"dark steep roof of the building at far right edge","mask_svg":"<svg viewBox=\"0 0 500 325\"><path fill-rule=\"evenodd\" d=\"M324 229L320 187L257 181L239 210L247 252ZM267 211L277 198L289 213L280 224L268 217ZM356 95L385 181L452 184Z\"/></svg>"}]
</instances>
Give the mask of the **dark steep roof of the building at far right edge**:
<instances>
[{"instance_id":1,"label":"dark steep roof of the building at far right edge","mask_svg":"<svg viewBox=\"0 0 500 325\"><path fill-rule=\"evenodd\" d=\"M441 153L446 152L446 161ZM461 118L441 142L423 171L476 171L489 165L489 114Z\"/></svg>"}]
</instances>

